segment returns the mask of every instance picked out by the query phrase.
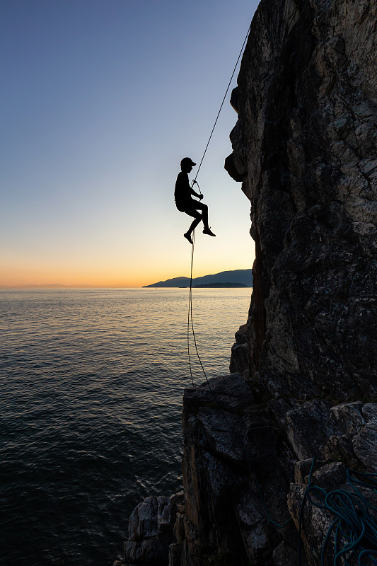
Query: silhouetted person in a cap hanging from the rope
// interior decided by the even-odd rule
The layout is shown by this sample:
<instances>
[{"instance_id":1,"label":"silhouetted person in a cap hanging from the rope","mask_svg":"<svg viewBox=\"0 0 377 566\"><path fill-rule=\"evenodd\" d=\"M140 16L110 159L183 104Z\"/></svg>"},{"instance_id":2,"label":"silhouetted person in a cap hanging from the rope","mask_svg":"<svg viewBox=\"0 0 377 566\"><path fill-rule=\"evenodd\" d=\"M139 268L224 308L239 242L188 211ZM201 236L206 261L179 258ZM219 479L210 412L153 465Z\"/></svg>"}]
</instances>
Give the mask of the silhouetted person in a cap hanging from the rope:
<instances>
[{"instance_id":1,"label":"silhouetted person in a cap hanging from the rope","mask_svg":"<svg viewBox=\"0 0 377 566\"><path fill-rule=\"evenodd\" d=\"M202 220L204 224L204 234L208 236L216 236L208 226L208 207L207 204L202 204L201 202L194 200L191 195L195 195L200 200L202 200L203 195L198 195L195 190L190 187L188 180L188 174L192 171L192 168L196 165L190 157L184 157L180 162L181 172L178 173L177 180L175 182L175 206L180 212L185 212L189 216L194 216L194 221L192 222L190 228L186 233L183 234L185 238L192 243L191 233L195 230L199 222ZM194 181L194 183L197 183ZM202 212L199 212L202 211Z\"/></svg>"}]
</instances>

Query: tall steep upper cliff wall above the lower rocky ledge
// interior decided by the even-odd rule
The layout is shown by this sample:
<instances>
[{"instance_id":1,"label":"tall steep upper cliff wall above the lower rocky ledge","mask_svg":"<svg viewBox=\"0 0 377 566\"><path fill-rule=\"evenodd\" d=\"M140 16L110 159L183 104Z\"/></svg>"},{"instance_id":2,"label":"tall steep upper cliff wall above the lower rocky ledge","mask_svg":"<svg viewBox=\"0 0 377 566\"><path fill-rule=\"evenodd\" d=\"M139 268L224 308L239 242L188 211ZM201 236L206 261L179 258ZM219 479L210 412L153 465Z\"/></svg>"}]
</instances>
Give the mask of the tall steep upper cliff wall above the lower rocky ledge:
<instances>
[{"instance_id":1,"label":"tall steep upper cliff wall above the lower rocky ledge","mask_svg":"<svg viewBox=\"0 0 377 566\"><path fill-rule=\"evenodd\" d=\"M257 254L245 369L273 395L377 396L376 22L372 0L264 0L243 56L227 163Z\"/></svg>"}]
</instances>

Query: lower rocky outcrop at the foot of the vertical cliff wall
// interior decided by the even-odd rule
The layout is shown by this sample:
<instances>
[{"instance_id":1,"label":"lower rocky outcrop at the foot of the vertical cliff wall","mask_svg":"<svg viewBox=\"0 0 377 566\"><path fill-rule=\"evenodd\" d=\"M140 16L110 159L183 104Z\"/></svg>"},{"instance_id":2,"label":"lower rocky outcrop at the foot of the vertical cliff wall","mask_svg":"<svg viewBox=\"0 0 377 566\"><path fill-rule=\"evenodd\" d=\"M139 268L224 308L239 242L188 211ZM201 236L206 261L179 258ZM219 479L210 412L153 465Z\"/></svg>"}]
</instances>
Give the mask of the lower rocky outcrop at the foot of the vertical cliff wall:
<instances>
[{"instance_id":1,"label":"lower rocky outcrop at the foot of the vertical cliff wall","mask_svg":"<svg viewBox=\"0 0 377 566\"><path fill-rule=\"evenodd\" d=\"M253 379L231 374L187 389L183 404L185 507L169 566L293 566L312 464L313 481L328 491L347 489L346 468L377 470L376 403L261 403ZM311 566L334 519L303 507Z\"/></svg>"}]
</instances>

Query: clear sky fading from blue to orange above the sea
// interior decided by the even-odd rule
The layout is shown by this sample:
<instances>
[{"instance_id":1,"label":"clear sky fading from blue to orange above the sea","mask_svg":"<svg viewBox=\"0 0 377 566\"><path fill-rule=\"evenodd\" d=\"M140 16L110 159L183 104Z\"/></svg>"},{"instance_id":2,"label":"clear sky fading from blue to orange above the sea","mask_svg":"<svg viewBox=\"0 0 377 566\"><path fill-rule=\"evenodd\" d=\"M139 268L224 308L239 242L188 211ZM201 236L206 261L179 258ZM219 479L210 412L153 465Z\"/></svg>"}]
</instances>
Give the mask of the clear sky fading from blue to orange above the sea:
<instances>
[{"instance_id":1,"label":"clear sky fading from blue to orange above the sea","mask_svg":"<svg viewBox=\"0 0 377 566\"><path fill-rule=\"evenodd\" d=\"M175 179L202 158L256 8L0 0L0 286L190 276ZM224 170L230 93L197 177L216 238L198 226L194 277L254 260L250 203Z\"/></svg>"}]
</instances>

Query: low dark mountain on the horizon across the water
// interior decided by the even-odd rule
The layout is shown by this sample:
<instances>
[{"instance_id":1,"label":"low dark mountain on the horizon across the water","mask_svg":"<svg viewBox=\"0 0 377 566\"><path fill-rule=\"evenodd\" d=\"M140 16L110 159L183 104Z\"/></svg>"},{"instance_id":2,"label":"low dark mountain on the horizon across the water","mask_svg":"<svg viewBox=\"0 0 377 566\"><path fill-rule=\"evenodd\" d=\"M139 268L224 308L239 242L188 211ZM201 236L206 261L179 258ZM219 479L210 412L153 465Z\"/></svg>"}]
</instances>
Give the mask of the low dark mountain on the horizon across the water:
<instances>
[{"instance_id":1,"label":"low dark mountain on the horizon across the water","mask_svg":"<svg viewBox=\"0 0 377 566\"><path fill-rule=\"evenodd\" d=\"M211 287L211 284L214 287L236 287L237 284L240 284L240 287L253 287L253 275L251 270L233 270L192 279L193 287L203 285ZM144 285L144 287L190 287L190 277L173 277L173 279L158 281L158 283Z\"/></svg>"}]
</instances>

